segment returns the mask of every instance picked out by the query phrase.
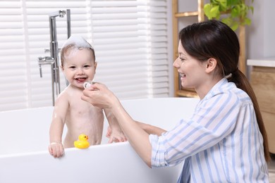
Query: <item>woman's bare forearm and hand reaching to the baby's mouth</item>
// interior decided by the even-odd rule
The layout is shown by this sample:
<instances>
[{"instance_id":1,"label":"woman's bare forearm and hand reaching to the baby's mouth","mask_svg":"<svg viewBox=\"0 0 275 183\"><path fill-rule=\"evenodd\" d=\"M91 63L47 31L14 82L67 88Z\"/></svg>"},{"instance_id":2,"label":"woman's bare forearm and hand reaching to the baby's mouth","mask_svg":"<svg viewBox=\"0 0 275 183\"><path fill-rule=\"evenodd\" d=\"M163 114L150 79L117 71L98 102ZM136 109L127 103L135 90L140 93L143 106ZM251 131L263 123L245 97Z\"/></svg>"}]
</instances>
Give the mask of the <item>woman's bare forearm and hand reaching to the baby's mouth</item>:
<instances>
[{"instance_id":1,"label":"woman's bare forearm and hand reaching to the baby's mouth","mask_svg":"<svg viewBox=\"0 0 275 183\"><path fill-rule=\"evenodd\" d=\"M128 115L120 101L104 84L92 84L90 88L83 91L81 99L92 103L93 106L110 110L116 117L133 149L151 167L152 146L149 142L149 134L140 127L140 123L135 122Z\"/></svg>"}]
</instances>

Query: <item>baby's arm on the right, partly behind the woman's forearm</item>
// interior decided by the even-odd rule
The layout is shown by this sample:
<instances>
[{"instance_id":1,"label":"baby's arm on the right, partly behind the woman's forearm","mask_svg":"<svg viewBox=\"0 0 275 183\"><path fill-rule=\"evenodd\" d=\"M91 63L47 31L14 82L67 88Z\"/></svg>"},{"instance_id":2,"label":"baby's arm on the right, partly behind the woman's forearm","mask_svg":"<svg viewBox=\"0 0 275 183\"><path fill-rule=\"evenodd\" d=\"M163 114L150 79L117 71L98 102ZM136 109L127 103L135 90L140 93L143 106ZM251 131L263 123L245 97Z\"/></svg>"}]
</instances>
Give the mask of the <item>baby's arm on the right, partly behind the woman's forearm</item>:
<instances>
[{"instance_id":1,"label":"baby's arm on the right, partly behind the woman's forearm","mask_svg":"<svg viewBox=\"0 0 275 183\"><path fill-rule=\"evenodd\" d=\"M121 127L118 125L118 121L111 113L111 111L109 111L109 109L104 109L104 113L109 122L109 127L106 134L106 137L109 138L108 143L127 141L127 138L121 130Z\"/></svg>"}]
</instances>

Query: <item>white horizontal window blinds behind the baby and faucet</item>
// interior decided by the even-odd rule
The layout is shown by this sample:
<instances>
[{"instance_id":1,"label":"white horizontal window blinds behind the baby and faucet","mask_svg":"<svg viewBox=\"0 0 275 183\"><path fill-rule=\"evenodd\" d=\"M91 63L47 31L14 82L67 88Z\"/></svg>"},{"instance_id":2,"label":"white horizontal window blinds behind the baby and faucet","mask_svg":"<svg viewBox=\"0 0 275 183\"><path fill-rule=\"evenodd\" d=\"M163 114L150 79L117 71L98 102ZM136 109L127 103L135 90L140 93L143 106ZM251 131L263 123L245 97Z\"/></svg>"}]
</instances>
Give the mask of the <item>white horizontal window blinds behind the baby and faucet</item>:
<instances>
[{"instance_id":1,"label":"white horizontal window blinds behind the baby and faucet","mask_svg":"<svg viewBox=\"0 0 275 183\"><path fill-rule=\"evenodd\" d=\"M0 111L51 106L49 13L71 9L71 34L94 46L95 81L119 99L169 96L166 0L0 1ZM56 18L59 47L66 18ZM61 90L66 87L61 73Z\"/></svg>"}]
</instances>

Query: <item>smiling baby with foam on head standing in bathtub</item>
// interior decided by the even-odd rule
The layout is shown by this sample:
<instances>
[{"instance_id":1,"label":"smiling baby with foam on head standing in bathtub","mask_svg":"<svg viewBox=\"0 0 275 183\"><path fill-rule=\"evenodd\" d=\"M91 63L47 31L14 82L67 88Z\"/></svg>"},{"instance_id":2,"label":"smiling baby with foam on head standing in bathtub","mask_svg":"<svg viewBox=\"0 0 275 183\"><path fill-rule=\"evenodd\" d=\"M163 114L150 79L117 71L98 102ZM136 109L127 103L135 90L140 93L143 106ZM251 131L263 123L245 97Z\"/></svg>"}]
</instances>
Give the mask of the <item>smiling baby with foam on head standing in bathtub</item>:
<instances>
[{"instance_id":1,"label":"smiling baby with foam on head standing in bathtub","mask_svg":"<svg viewBox=\"0 0 275 183\"><path fill-rule=\"evenodd\" d=\"M49 153L55 158L63 156L64 148L73 147L80 134L87 134L91 145L100 144L104 123L104 113L110 129L109 143L126 141L121 128L111 113L82 101L83 84L94 79L97 62L94 49L82 37L70 37L61 49L61 70L69 82L68 87L55 101L54 112L49 130ZM104 113L103 113L104 111ZM62 144L63 127L68 132Z\"/></svg>"}]
</instances>

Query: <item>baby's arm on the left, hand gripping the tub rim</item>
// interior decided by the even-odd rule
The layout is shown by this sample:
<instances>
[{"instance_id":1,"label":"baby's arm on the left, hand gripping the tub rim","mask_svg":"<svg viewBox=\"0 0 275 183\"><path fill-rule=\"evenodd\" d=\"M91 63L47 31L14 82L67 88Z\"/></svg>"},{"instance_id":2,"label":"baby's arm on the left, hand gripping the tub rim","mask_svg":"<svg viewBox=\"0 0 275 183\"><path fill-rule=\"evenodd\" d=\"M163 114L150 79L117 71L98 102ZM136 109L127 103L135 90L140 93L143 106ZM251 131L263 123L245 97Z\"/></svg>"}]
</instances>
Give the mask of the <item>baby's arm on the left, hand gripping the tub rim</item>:
<instances>
[{"instance_id":1,"label":"baby's arm on the left, hand gripping the tub rim","mask_svg":"<svg viewBox=\"0 0 275 183\"><path fill-rule=\"evenodd\" d=\"M59 158L63 156L64 153L62 134L67 110L68 100L64 94L60 94L54 105L51 127L49 129L49 153L51 156L54 156L54 158Z\"/></svg>"}]
</instances>

